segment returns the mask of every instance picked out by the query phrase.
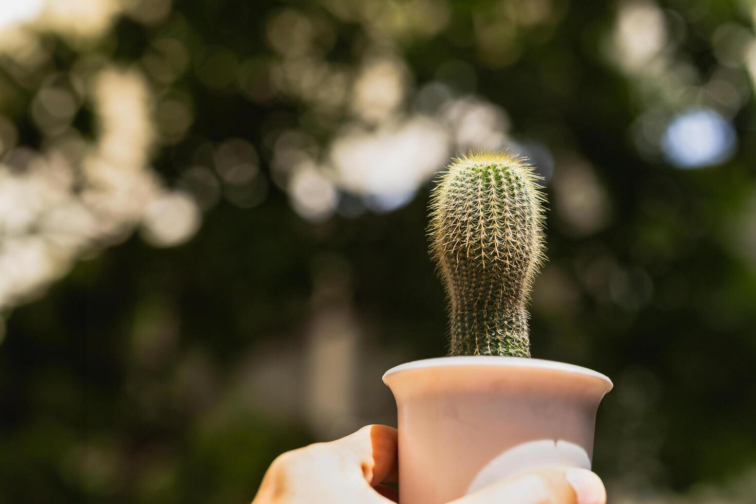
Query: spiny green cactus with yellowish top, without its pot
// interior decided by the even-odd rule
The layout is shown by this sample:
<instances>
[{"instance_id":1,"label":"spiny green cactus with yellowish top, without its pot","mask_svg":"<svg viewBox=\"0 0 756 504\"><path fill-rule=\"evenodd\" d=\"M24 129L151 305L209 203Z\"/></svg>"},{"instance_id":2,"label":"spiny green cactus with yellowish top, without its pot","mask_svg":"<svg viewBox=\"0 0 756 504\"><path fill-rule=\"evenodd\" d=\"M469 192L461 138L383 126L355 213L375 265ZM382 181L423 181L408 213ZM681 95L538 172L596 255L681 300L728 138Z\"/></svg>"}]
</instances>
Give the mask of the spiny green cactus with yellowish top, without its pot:
<instances>
[{"instance_id":1,"label":"spiny green cactus with yellowish top, without its pot","mask_svg":"<svg viewBox=\"0 0 756 504\"><path fill-rule=\"evenodd\" d=\"M450 355L530 357L527 304L544 261L544 194L525 159L454 159L431 195L431 255L451 319Z\"/></svg>"}]
</instances>

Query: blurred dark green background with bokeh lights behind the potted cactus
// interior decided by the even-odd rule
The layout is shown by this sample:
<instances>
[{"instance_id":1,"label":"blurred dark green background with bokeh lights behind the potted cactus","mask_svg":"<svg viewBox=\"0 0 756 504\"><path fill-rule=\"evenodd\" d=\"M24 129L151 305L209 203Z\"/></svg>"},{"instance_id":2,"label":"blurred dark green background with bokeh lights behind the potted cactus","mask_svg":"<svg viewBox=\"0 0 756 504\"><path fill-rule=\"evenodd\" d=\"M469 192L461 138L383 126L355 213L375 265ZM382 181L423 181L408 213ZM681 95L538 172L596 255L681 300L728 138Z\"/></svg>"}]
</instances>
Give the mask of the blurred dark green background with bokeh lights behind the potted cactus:
<instances>
[{"instance_id":1,"label":"blurred dark green background with bokeh lights behind the potted cactus","mask_svg":"<svg viewBox=\"0 0 756 504\"><path fill-rule=\"evenodd\" d=\"M534 354L615 380L611 502L751 502L754 33L742 0L0 2L0 500L249 502L394 422L383 371L446 351L435 173L508 149L549 201Z\"/></svg>"}]
</instances>

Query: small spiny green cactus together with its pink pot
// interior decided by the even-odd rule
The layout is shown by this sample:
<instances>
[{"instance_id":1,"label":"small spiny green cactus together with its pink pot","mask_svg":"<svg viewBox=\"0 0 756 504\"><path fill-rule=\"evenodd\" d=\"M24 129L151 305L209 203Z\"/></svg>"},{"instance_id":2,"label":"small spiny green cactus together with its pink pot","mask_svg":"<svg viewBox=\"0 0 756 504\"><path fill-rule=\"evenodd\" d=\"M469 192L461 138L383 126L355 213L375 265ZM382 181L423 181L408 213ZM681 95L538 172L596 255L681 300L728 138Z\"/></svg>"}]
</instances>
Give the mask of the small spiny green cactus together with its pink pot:
<instances>
[{"instance_id":1,"label":"small spiny green cactus together with its pink pot","mask_svg":"<svg viewBox=\"0 0 756 504\"><path fill-rule=\"evenodd\" d=\"M544 261L544 195L525 159L455 159L431 196L432 258L448 295L448 357L383 376L398 408L403 504L448 502L512 472L590 468L612 382L531 359L528 298Z\"/></svg>"}]
</instances>

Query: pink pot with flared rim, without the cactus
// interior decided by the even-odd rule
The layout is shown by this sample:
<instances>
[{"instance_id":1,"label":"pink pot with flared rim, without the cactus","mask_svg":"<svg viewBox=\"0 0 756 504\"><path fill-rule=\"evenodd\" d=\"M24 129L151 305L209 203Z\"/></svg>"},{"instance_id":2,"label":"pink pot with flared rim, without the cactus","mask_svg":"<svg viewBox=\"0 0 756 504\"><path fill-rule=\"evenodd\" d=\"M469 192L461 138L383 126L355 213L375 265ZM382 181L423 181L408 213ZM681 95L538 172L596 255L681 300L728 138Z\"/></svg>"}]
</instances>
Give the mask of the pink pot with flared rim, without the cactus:
<instances>
[{"instance_id":1,"label":"pink pot with flared rim, without the cactus","mask_svg":"<svg viewBox=\"0 0 756 504\"><path fill-rule=\"evenodd\" d=\"M401 504L442 504L513 472L590 468L612 382L572 364L440 357L386 371L398 408Z\"/></svg>"}]
</instances>

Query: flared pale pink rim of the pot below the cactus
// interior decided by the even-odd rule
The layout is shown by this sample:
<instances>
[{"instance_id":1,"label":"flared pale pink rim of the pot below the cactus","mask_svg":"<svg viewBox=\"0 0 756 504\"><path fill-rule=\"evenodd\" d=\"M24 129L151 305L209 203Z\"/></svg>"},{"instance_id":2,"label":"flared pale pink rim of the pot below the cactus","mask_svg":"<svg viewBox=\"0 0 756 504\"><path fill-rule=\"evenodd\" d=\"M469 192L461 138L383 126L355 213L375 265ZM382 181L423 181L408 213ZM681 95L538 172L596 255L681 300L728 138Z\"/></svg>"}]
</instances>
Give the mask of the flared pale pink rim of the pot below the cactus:
<instances>
[{"instance_id":1,"label":"flared pale pink rim of the pot below the cactus","mask_svg":"<svg viewBox=\"0 0 756 504\"><path fill-rule=\"evenodd\" d=\"M386 373L383 373L383 382L388 385L386 379L396 373L410 371L412 369L426 369L429 367L464 367L464 366L492 366L492 367L512 367L512 368L535 368L563 373L572 373L582 376L590 376L606 382L608 385L606 391L612 390L614 384L609 376L603 375L593 369L577 366L557 360L533 359L531 357L501 357L498 355L455 355L452 357L433 357L430 359L412 360L394 366Z\"/></svg>"}]
</instances>

